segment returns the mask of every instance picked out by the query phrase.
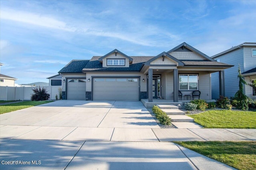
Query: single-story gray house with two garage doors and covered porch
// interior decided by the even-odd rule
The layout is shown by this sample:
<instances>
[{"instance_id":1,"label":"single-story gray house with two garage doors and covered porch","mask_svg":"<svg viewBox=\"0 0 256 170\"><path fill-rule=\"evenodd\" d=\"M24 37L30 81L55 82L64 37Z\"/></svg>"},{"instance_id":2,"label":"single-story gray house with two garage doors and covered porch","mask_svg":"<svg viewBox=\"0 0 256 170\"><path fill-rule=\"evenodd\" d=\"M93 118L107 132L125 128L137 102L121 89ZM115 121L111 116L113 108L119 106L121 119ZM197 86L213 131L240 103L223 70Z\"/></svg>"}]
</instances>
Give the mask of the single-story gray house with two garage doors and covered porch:
<instances>
[{"instance_id":1,"label":"single-story gray house with two garage doors and covered porch","mask_svg":"<svg viewBox=\"0 0 256 170\"><path fill-rule=\"evenodd\" d=\"M59 73L65 82L63 99L178 102L178 90L183 95L200 90L200 99L211 100L211 73L230 67L182 43L151 57L128 56L115 49L90 60L72 60Z\"/></svg>"}]
</instances>

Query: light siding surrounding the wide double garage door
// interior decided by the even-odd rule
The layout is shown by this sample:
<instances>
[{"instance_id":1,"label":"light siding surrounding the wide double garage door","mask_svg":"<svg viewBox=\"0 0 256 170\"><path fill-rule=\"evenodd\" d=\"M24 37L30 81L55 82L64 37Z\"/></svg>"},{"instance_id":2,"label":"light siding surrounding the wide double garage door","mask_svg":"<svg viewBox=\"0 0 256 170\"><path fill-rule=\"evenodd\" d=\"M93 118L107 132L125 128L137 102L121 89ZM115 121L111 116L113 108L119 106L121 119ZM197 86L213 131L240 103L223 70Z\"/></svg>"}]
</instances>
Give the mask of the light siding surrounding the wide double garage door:
<instances>
[{"instance_id":1,"label":"light siding surrounding the wide double garage door","mask_svg":"<svg viewBox=\"0 0 256 170\"><path fill-rule=\"evenodd\" d=\"M113 72L110 74L110 72L88 72L86 73L87 76L86 76L86 79L88 80L88 78L90 78L90 80L92 81L92 76L102 76L102 77L107 77L107 76L125 76L125 77L129 77L129 76L140 76L140 91L141 92L146 92L147 91L147 76L144 75L143 73L140 73L140 72L125 72L125 73L122 73L122 72ZM144 78L144 82L142 81ZM92 83L87 82L86 84L86 92L91 92L92 91Z\"/></svg>"}]
</instances>

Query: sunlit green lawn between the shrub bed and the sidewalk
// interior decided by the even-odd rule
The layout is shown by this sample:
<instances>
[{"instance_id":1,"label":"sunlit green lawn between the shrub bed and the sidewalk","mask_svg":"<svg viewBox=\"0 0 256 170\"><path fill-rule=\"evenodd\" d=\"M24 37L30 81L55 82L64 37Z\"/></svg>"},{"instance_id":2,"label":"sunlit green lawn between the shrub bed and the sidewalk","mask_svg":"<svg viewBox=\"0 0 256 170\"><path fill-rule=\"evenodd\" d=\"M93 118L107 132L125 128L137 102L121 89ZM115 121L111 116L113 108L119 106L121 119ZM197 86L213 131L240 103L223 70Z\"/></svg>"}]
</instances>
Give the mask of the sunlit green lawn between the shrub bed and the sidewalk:
<instances>
[{"instance_id":1,"label":"sunlit green lawn between the shrub bed and the sidewalk","mask_svg":"<svg viewBox=\"0 0 256 170\"><path fill-rule=\"evenodd\" d=\"M206 128L256 129L256 111L209 110L188 116Z\"/></svg>"}]
</instances>

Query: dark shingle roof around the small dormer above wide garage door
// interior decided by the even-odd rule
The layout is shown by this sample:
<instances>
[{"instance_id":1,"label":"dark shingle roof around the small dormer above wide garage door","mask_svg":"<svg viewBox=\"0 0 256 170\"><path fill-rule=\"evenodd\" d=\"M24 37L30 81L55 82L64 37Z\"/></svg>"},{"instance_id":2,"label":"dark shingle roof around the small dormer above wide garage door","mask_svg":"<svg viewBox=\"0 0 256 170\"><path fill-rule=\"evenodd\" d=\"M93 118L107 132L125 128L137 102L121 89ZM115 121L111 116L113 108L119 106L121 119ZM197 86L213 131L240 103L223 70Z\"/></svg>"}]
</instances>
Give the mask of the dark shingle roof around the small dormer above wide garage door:
<instances>
[{"instance_id":1,"label":"dark shingle roof around the small dormer above wide garage door","mask_svg":"<svg viewBox=\"0 0 256 170\"><path fill-rule=\"evenodd\" d=\"M153 57L131 57L133 59L133 62L132 64L130 64L129 67L102 67L102 63L98 61L99 58L99 56L92 57L92 59L84 67L83 71L140 71L143 64L146 61L152 59Z\"/></svg>"}]
</instances>

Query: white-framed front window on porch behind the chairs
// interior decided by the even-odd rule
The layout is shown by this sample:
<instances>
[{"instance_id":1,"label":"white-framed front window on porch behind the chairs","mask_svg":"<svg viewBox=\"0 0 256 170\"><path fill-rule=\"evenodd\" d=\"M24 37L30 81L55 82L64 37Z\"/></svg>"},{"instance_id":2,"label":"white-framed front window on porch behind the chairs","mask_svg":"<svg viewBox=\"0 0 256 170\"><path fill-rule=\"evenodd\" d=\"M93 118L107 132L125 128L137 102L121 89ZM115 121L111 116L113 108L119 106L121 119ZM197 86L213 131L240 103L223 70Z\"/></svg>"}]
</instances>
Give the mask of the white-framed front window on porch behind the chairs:
<instances>
[{"instance_id":1,"label":"white-framed front window on porch behind the chairs","mask_svg":"<svg viewBox=\"0 0 256 170\"><path fill-rule=\"evenodd\" d=\"M179 75L180 90L198 90L197 74L180 74Z\"/></svg>"}]
</instances>

